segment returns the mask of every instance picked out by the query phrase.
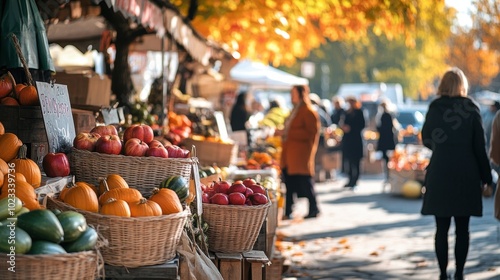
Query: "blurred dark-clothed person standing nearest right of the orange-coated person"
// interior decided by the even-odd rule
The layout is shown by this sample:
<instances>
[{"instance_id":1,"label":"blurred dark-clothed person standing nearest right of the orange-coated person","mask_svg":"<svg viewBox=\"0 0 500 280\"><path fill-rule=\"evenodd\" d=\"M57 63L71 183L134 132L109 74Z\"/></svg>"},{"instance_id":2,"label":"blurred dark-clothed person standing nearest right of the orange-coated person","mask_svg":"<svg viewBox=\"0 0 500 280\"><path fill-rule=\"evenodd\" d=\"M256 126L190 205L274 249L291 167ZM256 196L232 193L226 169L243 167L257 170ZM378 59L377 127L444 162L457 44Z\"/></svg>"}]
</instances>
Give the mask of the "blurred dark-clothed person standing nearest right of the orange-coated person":
<instances>
[{"instance_id":1,"label":"blurred dark-clothed person standing nearest right of the orange-coated person","mask_svg":"<svg viewBox=\"0 0 500 280\"><path fill-rule=\"evenodd\" d=\"M363 158L363 136L365 116L361 109L361 102L355 97L346 98L348 108L340 128L344 132L342 137L342 158L349 181L344 187L356 187L360 174L360 164Z\"/></svg>"}]
</instances>

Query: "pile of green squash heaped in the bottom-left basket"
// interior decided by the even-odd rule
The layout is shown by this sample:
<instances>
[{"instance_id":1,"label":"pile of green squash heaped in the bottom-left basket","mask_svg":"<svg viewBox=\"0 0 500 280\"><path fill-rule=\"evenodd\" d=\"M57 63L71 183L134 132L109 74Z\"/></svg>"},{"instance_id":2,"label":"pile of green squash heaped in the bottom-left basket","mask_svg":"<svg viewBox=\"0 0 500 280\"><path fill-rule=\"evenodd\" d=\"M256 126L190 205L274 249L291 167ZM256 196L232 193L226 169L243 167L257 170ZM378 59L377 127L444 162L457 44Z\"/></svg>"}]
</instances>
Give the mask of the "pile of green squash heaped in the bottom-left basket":
<instances>
[{"instance_id":1,"label":"pile of green squash heaped in the bottom-left basket","mask_svg":"<svg viewBox=\"0 0 500 280\"><path fill-rule=\"evenodd\" d=\"M14 200L15 207L9 202ZM14 209L12 216L9 211ZM16 219L12 221L11 219ZM15 227L12 227L12 224ZM12 233L12 231L15 231ZM15 246L9 242L14 235ZM98 235L85 217L75 211L27 210L17 197L0 199L0 252L65 254L95 249Z\"/></svg>"}]
</instances>

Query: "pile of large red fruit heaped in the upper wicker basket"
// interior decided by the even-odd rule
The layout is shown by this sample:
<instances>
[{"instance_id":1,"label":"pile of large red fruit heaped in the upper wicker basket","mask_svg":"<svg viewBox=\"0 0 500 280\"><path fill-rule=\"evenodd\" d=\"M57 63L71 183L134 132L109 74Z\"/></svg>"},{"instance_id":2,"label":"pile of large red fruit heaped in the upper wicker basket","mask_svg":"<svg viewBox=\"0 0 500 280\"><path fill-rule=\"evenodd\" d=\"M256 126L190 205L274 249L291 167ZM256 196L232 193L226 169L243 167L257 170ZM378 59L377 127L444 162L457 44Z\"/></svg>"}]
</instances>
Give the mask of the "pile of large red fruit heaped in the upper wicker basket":
<instances>
[{"instance_id":1,"label":"pile of large red fruit heaped in the upper wicker basket","mask_svg":"<svg viewBox=\"0 0 500 280\"><path fill-rule=\"evenodd\" d=\"M127 127L123 140L113 125L96 126L90 132L80 132L73 140L73 147L80 150L110 155L135 157L187 158L189 150L176 145L163 145L154 139L153 129L146 124Z\"/></svg>"}]
</instances>

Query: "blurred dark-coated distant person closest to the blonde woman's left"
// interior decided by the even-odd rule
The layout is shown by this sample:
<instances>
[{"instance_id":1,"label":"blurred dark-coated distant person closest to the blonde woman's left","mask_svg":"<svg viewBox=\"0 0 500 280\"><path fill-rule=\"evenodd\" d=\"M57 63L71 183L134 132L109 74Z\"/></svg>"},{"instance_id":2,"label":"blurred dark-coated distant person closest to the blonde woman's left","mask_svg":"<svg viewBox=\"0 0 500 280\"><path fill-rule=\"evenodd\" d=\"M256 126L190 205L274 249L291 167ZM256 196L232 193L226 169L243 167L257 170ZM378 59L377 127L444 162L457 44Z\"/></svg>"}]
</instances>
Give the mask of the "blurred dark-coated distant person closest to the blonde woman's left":
<instances>
[{"instance_id":1,"label":"blurred dark-coated distant person closest to the blonde woman's left","mask_svg":"<svg viewBox=\"0 0 500 280\"><path fill-rule=\"evenodd\" d=\"M389 100L383 100L379 104L379 111L375 117L377 124L377 131L379 134L377 142L377 151L382 153L384 161L385 183L389 182L389 155L390 151L396 148L396 140L394 136L394 116L392 104Z\"/></svg>"}]
</instances>

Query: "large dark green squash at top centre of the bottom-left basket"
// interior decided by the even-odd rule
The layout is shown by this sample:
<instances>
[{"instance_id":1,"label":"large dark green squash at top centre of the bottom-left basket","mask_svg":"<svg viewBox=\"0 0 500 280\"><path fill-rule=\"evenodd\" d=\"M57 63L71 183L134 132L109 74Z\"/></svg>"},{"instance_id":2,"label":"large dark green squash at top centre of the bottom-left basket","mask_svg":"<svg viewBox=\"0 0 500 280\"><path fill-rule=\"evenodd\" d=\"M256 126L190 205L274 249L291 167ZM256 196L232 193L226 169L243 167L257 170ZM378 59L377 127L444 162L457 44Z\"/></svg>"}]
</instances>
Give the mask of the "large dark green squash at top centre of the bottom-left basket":
<instances>
[{"instance_id":1,"label":"large dark green squash at top centre of the bottom-left basket","mask_svg":"<svg viewBox=\"0 0 500 280\"><path fill-rule=\"evenodd\" d=\"M56 215L47 209L36 209L17 217L17 226L24 229L33 240L60 243L64 230Z\"/></svg>"}]
</instances>

